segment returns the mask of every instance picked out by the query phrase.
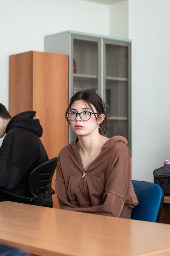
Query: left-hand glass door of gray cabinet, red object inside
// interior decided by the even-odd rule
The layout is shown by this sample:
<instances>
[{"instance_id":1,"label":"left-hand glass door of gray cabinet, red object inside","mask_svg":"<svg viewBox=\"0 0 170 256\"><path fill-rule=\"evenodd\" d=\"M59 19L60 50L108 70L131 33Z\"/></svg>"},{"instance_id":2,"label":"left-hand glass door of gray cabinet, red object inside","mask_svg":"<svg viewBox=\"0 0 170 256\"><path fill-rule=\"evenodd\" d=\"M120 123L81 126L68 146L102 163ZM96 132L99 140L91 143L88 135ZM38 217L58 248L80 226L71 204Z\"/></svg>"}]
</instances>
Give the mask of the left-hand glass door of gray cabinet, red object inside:
<instances>
[{"instance_id":1,"label":"left-hand glass door of gray cabinet, red object inside","mask_svg":"<svg viewBox=\"0 0 170 256\"><path fill-rule=\"evenodd\" d=\"M77 91L101 93L101 39L71 35L70 98ZM70 128L70 141L76 135Z\"/></svg>"}]
</instances>

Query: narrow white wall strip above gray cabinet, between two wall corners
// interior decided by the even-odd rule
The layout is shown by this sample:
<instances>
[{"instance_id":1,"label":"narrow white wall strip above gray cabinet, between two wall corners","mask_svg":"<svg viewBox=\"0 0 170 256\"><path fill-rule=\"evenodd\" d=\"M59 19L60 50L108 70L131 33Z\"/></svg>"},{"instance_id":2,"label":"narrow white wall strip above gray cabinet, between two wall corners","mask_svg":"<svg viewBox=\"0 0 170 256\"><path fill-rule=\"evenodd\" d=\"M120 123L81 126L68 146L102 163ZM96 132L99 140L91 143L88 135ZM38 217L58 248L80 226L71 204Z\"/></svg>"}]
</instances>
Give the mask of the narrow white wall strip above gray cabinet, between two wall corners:
<instances>
[{"instance_id":1,"label":"narrow white wall strip above gray cabinet, between two wall corners","mask_svg":"<svg viewBox=\"0 0 170 256\"><path fill-rule=\"evenodd\" d=\"M109 5L109 35L128 39L128 24L128 0Z\"/></svg>"}]
</instances>

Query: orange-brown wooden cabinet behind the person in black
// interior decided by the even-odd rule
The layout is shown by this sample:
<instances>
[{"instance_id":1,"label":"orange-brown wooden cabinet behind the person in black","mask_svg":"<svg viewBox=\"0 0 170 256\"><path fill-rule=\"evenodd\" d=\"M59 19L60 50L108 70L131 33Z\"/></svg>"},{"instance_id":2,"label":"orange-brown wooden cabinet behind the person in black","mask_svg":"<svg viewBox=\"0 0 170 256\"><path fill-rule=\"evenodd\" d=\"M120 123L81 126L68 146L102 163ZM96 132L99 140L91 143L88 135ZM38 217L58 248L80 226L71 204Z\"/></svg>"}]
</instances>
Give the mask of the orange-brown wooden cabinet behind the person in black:
<instances>
[{"instance_id":1,"label":"orange-brown wooden cabinet behind the person in black","mask_svg":"<svg viewBox=\"0 0 170 256\"><path fill-rule=\"evenodd\" d=\"M9 111L12 116L34 110L43 127L49 158L68 144L68 55L26 52L10 56ZM55 174L52 181L54 185ZM58 208L56 194L53 204Z\"/></svg>"}]
</instances>

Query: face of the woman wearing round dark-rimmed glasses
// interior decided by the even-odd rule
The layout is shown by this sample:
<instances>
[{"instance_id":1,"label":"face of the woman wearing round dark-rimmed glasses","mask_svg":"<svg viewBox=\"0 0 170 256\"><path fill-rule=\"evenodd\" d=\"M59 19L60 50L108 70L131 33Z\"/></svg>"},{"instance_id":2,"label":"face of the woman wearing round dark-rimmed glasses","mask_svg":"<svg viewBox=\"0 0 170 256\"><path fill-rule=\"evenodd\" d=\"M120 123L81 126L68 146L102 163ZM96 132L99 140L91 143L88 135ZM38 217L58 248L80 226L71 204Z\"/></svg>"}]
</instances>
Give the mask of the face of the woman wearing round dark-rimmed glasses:
<instances>
[{"instance_id":1,"label":"face of the woman wearing round dark-rimmed glasses","mask_svg":"<svg viewBox=\"0 0 170 256\"><path fill-rule=\"evenodd\" d=\"M92 108L95 113L97 113L97 110L94 105L92 105ZM85 111L84 113L81 114L82 118L84 117L86 119L86 116L89 116L87 112L92 112L90 106L85 103L83 100L75 100L70 108L70 111L72 111L72 115L76 116L76 113L81 113ZM96 115L98 117L98 115ZM83 136L87 135L90 133L95 133L99 132L99 120L96 120L95 114L91 114L91 117L89 120L84 121L80 118L80 115L77 115L75 120L70 121L72 130L77 134L78 136Z\"/></svg>"}]
</instances>

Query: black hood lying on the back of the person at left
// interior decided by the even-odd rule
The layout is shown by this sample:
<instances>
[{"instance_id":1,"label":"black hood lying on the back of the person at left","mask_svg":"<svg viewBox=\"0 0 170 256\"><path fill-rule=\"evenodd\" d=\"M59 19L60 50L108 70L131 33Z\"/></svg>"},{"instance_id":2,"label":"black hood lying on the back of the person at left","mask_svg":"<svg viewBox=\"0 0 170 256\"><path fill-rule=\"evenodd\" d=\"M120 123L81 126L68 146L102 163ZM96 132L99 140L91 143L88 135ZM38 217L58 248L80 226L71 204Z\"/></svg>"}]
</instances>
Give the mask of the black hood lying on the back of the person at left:
<instances>
[{"instance_id":1,"label":"black hood lying on the back of the person at left","mask_svg":"<svg viewBox=\"0 0 170 256\"><path fill-rule=\"evenodd\" d=\"M39 119L33 119L35 111L25 111L15 115L6 127L6 133L13 127L19 127L34 132L38 137L43 134L43 128L39 123Z\"/></svg>"}]
</instances>

